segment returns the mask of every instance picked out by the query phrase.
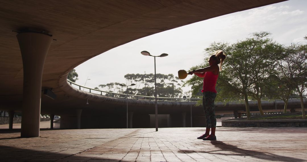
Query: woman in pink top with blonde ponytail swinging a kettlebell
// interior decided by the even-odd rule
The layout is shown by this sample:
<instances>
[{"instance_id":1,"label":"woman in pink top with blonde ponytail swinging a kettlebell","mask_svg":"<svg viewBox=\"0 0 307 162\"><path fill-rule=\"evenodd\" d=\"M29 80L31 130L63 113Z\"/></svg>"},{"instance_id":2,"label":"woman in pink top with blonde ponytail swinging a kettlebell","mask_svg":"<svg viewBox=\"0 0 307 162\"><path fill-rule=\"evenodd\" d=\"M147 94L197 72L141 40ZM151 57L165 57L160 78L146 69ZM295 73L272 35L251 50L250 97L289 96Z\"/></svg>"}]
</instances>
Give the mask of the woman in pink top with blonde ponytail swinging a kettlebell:
<instances>
[{"instance_id":1,"label":"woman in pink top with blonde ponytail swinging a kettlebell","mask_svg":"<svg viewBox=\"0 0 307 162\"><path fill-rule=\"evenodd\" d=\"M206 132L205 134L197 137L197 139L203 140L216 140L215 129L216 129L216 118L214 114L214 99L216 98L216 81L219 76L219 72L222 71L222 64L225 60L226 55L223 54L222 50L213 52L213 55L209 59L209 66L190 71L188 74L195 74L199 77L204 78L203 90L203 107L206 115ZM211 128L211 134L210 133Z\"/></svg>"}]
</instances>

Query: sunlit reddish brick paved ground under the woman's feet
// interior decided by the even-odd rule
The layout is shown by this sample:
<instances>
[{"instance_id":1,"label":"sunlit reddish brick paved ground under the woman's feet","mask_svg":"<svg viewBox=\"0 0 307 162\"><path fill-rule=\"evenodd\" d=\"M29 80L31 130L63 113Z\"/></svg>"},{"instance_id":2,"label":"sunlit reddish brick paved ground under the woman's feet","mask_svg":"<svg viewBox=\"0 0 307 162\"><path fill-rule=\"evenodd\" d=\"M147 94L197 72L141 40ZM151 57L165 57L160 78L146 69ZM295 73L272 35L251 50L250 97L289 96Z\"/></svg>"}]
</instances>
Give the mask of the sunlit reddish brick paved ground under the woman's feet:
<instances>
[{"instance_id":1,"label":"sunlit reddish brick paved ground under the woman's feet","mask_svg":"<svg viewBox=\"0 0 307 162\"><path fill-rule=\"evenodd\" d=\"M0 130L1 161L307 161L307 128Z\"/></svg>"}]
</instances>

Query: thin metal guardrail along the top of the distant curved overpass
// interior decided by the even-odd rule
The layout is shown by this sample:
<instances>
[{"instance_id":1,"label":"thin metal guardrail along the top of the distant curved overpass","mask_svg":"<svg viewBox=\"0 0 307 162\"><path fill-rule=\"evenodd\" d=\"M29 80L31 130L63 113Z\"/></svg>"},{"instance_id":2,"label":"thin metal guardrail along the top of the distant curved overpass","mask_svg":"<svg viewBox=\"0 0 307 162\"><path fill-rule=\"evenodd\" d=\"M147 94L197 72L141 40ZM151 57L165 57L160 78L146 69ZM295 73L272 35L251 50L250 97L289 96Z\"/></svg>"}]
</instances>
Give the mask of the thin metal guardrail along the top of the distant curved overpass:
<instances>
[{"instance_id":1,"label":"thin metal guardrail along the top of the distant curved overpass","mask_svg":"<svg viewBox=\"0 0 307 162\"><path fill-rule=\"evenodd\" d=\"M77 83L74 83L70 80L67 80L68 83L70 83L70 85L74 88L77 88L79 90L81 90L81 88L83 88L82 91L89 92L89 93L93 93L96 95L103 95L103 96L109 96L109 97L116 97L116 98L126 98L128 97L129 99L136 99L136 100L155 100L155 97L153 96L140 96L140 95L128 95L127 94L122 94L122 93L115 93L115 92L109 92L109 91L102 91L102 90L98 90L98 89L93 89L90 87L84 87L82 85L79 85ZM293 97L293 96L291 96ZM296 96L299 98L299 96ZM306 98L306 95L303 96L304 98ZM298 98L291 98L291 99L298 99ZM201 100L202 98L171 98L171 97L157 97L157 101L171 101L171 102L197 102L198 100ZM275 101L275 100L264 100L264 101Z\"/></svg>"}]
</instances>

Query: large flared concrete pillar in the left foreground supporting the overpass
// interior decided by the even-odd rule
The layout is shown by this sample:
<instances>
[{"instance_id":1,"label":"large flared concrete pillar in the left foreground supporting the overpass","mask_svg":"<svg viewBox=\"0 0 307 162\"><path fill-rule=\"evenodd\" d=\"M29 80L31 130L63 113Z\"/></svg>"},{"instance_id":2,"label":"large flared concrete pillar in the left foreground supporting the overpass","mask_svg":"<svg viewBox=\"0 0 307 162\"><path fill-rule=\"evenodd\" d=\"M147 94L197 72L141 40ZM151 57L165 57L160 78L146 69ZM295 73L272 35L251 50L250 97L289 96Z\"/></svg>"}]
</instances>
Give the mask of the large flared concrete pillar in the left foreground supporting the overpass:
<instances>
[{"instance_id":1,"label":"large flared concrete pillar in the left foreground supporting the overpass","mask_svg":"<svg viewBox=\"0 0 307 162\"><path fill-rule=\"evenodd\" d=\"M42 33L19 33L23 64L21 137L39 137L41 80L52 37Z\"/></svg>"}]
</instances>

